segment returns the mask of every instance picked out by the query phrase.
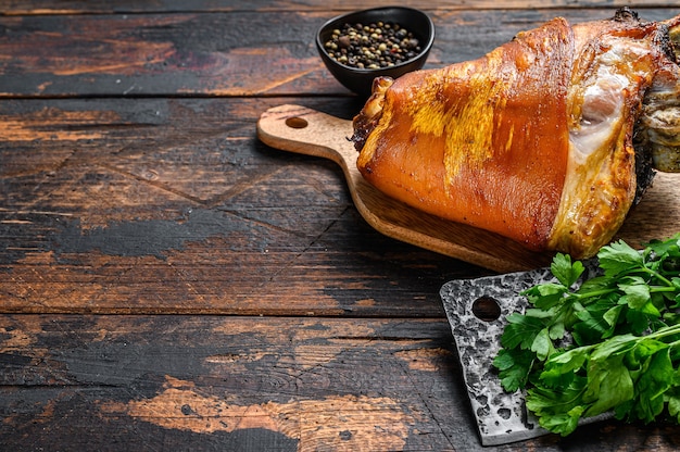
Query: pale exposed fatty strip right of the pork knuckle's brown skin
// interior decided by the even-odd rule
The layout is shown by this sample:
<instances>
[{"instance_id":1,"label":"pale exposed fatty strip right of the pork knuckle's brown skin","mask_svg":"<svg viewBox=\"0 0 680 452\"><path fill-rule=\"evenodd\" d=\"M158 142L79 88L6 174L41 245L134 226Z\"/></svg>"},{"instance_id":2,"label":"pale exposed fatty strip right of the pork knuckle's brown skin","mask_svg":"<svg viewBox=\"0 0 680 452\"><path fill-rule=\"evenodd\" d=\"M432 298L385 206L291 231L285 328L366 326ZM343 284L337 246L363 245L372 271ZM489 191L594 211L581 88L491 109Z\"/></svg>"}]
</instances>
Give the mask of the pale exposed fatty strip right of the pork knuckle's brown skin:
<instances>
[{"instance_id":1,"label":"pale exposed fatty strip right of the pork knuckle's brown skin","mask_svg":"<svg viewBox=\"0 0 680 452\"><path fill-rule=\"evenodd\" d=\"M594 237L594 230L600 226L612 235L618 228L616 225L600 225L591 217L593 214L597 216L599 206L614 204L612 197L618 196L599 180L606 179L610 171L603 164L607 165L607 155L617 150L627 116L627 102L631 96L639 95L638 83L644 75L637 73L637 62L651 51L648 42L625 37L604 37L597 46L606 50L590 62L581 79L572 81L568 95L567 111L580 112L580 117L569 122L567 174L550 239L551 247L577 254L591 253L602 244L601 241L609 239L608 236ZM570 102L580 102L581 109L575 109ZM600 188L593 191L595 186ZM579 250L578 243L590 248Z\"/></svg>"}]
</instances>

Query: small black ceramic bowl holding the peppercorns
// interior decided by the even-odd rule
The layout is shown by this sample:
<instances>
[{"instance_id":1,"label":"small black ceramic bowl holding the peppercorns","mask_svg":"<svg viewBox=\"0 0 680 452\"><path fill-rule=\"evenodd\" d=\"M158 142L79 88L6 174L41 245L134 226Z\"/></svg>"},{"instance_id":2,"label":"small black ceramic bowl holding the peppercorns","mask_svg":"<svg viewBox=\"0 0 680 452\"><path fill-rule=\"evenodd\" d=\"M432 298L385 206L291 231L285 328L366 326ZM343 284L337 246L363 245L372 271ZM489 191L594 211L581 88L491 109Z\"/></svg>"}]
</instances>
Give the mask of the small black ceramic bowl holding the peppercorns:
<instances>
[{"instance_id":1,"label":"small black ceramic bowl holding the peppercorns","mask_svg":"<svg viewBox=\"0 0 680 452\"><path fill-rule=\"evenodd\" d=\"M345 23L361 23L367 25L379 21L399 24L413 33L414 37L418 39L420 52L411 60L394 64L393 66L369 70L341 64L332 59L326 51L325 43L331 39L333 29L341 29ZM316 34L316 48L318 49L324 64L328 67L328 71L347 88L366 98L370 95L374 78L379 76L398 78L407 72L421 68L432 48L433 41L435 25L430 17L423 11L402 7L376 8L343 14L326 22Z\"/></svg>"}]
</instances>

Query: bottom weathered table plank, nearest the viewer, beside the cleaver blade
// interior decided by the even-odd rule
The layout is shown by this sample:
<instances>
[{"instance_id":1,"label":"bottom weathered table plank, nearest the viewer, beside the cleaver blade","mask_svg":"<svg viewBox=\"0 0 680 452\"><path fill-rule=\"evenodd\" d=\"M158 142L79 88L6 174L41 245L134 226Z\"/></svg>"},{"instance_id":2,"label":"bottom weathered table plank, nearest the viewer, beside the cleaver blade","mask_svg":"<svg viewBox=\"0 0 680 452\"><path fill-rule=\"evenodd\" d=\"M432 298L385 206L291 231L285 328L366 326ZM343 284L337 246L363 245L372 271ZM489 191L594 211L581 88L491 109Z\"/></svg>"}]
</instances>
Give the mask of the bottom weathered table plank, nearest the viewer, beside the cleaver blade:
<instances>
[{"instance_id":1,"label":"bottom weathered table plank, nearest the viewer, beside the cleaver blade","mask_svg":"<svg viewBox=\"0 0 680 452\"><path fill-rule=\"evenodd\" d=\"M606 422L479 444L449 326L427 319L0 317L7 450L672 451Z\"/></svg>"}]
</instances>

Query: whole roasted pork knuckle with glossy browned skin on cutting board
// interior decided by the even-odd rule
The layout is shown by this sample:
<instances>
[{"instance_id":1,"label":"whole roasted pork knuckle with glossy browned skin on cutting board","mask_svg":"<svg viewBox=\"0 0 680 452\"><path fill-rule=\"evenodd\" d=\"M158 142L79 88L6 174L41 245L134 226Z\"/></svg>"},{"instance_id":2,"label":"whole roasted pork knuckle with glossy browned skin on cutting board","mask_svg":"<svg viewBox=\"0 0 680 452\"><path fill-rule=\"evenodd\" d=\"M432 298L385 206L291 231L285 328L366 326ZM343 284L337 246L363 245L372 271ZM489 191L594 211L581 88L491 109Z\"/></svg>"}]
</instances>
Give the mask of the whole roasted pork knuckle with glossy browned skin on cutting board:
<instances>
[{"instance_id":1,"label":"whole roasted pork knuckle with glossy browned skin on cutting board","mask_svg":"<svg viewBox=\"0 0 680 452\"><path fill-rule=\"evenodd\" d=\"M557 17L483 58L378 78L354 118L386 194L533 250L593 255L679 170L680 16ZM633 139L634 138L634 139Z\"/></svg>"}]
</instances>

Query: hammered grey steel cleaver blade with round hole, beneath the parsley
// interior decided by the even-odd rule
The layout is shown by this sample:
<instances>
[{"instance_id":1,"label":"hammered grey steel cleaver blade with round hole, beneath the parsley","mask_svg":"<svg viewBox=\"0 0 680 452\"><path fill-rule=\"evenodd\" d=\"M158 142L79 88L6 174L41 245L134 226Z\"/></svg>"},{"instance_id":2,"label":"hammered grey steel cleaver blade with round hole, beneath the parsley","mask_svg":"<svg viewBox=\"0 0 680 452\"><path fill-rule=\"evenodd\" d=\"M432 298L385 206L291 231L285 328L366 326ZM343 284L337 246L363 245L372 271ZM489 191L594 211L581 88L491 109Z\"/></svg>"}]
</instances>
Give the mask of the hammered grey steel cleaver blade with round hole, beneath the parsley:
<instances>
[{"instance_id":1,"label":"hammered grey steel cleaver blade with round hole, beneath the parsley","mask_svg":"<svg viewBox=\"0 0 680 452\"><path fill-rule=\"evenodd\" d=\"M587 263L585 263L587 264ZM593 266L587 264L589 272ZM500 445L537 438L549 431L527 412L521 392L507 393L493 367L501 348L505 317L528 306L519 293L554 280L550 268L449 281L440 296L461 360L463 378L482 445ZM592 423L610 414L582 420Z\"/></svg>"}]
</instances>

